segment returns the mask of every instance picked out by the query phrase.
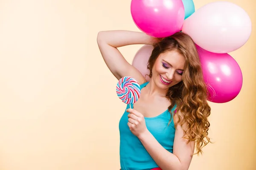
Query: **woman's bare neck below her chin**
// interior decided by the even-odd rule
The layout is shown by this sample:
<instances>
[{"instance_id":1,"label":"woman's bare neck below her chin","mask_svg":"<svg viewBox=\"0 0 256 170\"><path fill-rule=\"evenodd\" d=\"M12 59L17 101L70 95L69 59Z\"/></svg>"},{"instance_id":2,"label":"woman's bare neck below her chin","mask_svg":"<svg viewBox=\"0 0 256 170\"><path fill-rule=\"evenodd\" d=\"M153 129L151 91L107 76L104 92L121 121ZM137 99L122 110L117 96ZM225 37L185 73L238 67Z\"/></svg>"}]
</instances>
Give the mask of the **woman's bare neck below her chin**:
<instances>
[{"instance_id":1,"label":"woman's bare neck below her chin","mask_svg":"<svg viewBox=\"0 0 256 170\"><path fill-rule=\"evenodd\" d=\"M159 97L166 97L166 94L168 92L168 88L167 89L160 89L158 88L154 81L150 80L148 85L145 87L147 90L147 95L148 97L150 96L159 96Z\"/></svg>"}]
</instances>

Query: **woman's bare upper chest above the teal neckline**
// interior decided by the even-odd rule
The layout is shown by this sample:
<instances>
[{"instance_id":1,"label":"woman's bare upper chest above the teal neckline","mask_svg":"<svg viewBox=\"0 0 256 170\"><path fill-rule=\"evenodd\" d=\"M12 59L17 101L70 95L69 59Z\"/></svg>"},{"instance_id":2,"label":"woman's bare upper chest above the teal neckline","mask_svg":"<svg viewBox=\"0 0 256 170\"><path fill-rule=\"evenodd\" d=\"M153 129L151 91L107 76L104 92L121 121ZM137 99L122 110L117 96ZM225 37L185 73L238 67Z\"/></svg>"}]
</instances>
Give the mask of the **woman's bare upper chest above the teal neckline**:
<instances>
[{"instance_id":1,"label":"woman's bare upper chest above the teal neckline","mask_svg":"<svg viewBox=\"0 0 256 170\"><path fill-rule=\"evenodd\" d=\"M165 98L146 98L140 99L134 103L133 109L143 114L144 117L152 118L165 112L171 105Z\"/></svg>"}]
</instances>

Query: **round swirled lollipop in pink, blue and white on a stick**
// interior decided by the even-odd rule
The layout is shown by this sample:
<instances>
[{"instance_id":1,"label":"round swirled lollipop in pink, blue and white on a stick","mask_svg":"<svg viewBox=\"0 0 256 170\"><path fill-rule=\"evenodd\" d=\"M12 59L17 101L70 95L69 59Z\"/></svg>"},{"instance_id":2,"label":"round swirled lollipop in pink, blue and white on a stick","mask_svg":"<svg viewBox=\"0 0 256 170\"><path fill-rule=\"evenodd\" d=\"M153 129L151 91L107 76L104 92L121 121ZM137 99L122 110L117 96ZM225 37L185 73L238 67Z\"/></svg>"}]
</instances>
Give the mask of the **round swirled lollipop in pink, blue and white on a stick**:
<instances>
[{"instance_id":1,"label":"round swirled lollipop in pink, blue and white on a stick","mask_svg":"<svg viewBox=\"0 0 256 170\"><path fill-rule=\"evenodd\" d=\"M122 77L116 85L116 94L122 102L131 104L140 98L140 85L132 77Z\"/></svg>"}]
</instances>

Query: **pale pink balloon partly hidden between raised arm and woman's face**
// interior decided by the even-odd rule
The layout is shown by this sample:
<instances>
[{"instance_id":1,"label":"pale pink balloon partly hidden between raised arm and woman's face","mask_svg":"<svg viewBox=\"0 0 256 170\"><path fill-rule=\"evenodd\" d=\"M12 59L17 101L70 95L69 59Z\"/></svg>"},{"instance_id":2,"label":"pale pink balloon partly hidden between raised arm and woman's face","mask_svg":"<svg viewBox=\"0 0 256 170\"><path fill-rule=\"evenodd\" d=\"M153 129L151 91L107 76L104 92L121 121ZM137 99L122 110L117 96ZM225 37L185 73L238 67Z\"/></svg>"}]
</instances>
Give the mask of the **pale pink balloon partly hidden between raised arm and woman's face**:
<instances>
[{"instance_id":1,"label":"pale pink balloon partly hidden between raised arm and woman's face","mask_svg":"<svg viewBox=\"0 0 256 170\"><path fill-rule=\"evenodd\" d=\"M145 77L147 81L150 80L146 74L149 74L149 70L147 69L148 59L151 56L151 52L153 50L152 45L143 45L135 54L135 57L132 61L132 65L140 71L140 73Z\"/></svg>"}]
</instances>

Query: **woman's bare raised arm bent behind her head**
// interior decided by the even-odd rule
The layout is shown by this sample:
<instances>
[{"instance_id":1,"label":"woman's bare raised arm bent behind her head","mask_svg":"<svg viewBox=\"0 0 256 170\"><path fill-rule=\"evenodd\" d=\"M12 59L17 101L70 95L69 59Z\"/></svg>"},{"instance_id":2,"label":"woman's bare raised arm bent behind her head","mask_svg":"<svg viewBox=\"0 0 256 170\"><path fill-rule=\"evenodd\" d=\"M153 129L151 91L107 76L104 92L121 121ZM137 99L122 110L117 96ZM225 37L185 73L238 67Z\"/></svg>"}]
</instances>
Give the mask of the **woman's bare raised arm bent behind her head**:
<instances>
[{"instance_id":1,"label":"woman's bare raised arm bent behind her head","mask_svg":"<svg viewBox=\"0 0 256 170\"><path fill-rule=\"evenodd\" d=\"M126 61L117 48L134 44L152 45L156 41L154 37L142 32L122 30L100 31L97 37L99 50L111 73L117 79L125 76L133 77L140 84L146 82L146 79L140 71Z\"/></svg>"}]
</instances>

